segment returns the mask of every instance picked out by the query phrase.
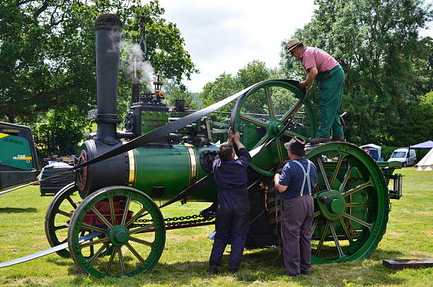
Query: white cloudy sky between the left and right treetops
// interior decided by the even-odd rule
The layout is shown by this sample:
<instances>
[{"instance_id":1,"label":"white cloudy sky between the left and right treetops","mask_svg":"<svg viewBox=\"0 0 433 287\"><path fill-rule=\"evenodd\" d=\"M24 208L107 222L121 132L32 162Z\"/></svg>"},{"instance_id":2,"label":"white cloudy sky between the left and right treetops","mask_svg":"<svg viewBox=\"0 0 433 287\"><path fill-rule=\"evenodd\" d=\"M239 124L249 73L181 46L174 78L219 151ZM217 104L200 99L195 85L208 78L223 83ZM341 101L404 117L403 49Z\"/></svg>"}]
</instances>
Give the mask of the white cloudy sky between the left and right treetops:
<instances>
[{"instance_id":1,"label":"white cloudy sky between the left and right treetops","mask_svg":"<svg viewBox=\"0 0 433 287\"><path fill-rule=\"evenodd\" d=\"M277 67L280 43L313 16L313 0L160 0L176 23L200 74L184 81L192 92L253 60Z\"/></svg>"}]
</instances>

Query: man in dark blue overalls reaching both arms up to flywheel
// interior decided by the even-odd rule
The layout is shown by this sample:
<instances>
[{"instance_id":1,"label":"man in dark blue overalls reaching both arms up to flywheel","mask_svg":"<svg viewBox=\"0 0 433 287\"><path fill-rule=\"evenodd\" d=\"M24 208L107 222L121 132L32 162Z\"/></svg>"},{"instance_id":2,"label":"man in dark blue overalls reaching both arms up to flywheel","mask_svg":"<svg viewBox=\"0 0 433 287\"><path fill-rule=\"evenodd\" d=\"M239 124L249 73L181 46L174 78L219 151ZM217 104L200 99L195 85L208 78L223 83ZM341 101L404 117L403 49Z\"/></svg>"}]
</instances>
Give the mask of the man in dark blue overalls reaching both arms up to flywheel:
<instances>
[{"instance_id":1,"label":"man in dark blue overalls reaching both arms up to flywheel","mask_svg":"<svg viewBox=\"0 0 433 287\"><path fill-rule=\"evenodd\" d=\"M233 144L238 147L235 159ZM241 264L250 227L250 201L247 190L247 169L251 156L242 145L240 135L229 130L229 140L219 146L214 160L214 178L218 186L218 211L215 241L209 259L209 273L217 274L227 244L231 242L229 271L236 273Z\"/></svg>"}]
</instances>

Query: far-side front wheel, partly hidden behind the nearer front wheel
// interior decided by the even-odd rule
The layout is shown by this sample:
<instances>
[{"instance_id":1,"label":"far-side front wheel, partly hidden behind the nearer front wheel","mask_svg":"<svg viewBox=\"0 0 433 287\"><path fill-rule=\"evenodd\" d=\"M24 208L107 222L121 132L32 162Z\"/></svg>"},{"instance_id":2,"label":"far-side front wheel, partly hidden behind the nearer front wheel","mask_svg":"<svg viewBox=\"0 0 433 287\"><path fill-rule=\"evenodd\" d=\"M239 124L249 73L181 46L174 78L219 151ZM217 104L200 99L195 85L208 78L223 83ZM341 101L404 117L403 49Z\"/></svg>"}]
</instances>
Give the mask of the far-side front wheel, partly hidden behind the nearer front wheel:
<instances>
[{"instance_id":1,"label":"far-side front wheel, partly hidden behind the nearer front wheel","mask_svg":"<svg viewBox=\"0 0 433 287\"><path fill-rule=\"evenodd\" d=\"M74 196L78 191L74 183L64 186L56 193L45 214L45 235L51 247L57 246L68 239L68 221L71 218L71 210L78 206L79 196ZM69 258L71 254L67 249L56 252L61 257Z\"/></svg>"}]
</instances>

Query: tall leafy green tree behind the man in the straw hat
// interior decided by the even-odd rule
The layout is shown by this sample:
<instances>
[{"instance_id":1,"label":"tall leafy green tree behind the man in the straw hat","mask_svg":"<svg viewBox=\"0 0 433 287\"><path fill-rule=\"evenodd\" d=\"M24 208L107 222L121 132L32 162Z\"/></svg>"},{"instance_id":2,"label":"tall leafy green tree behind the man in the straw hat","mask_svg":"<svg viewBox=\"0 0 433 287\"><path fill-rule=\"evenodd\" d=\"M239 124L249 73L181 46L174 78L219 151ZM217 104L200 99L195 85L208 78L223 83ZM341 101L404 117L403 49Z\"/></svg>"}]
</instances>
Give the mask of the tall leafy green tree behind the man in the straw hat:
<instances>
[{"instance_id":1,"label":"tall leafy green tree behind the man in the straw hat","mask_svg":"<svg viewBox=\"0 0 433 287\"><path fill-rule=\"evenodd\" d=\"M294 37L323 48L345 70L345 134L356 143L377 138L390 144L393 128L405 122L408 108L423 94L417 88L428 89L428 79L418 77L420 67L415 63L429 69L422 62L428 62L425 55L418 54L422 43L418 30L432 19L431 6L423 8L420 0L315 3L318 9L313 19L296 30ZM424 47L428 50L427 43ZM299 62L282 50L282 69L302 79ZM310 94L316 101L317 89Z\"/></svg>"}]
</instances>

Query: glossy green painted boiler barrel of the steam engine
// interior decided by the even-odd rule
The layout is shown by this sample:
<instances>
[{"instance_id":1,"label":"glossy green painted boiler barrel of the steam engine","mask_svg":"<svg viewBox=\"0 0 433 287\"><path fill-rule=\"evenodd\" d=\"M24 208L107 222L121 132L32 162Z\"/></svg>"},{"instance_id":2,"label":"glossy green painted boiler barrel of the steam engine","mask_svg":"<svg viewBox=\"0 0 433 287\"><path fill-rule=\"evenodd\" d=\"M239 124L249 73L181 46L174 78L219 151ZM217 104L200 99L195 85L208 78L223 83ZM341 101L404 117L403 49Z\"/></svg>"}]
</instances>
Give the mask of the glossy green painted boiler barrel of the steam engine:
<instances>
[{"instance_id":1,"label":"glossy green painted boiler barrel of the steam engine","mask_svg":"<svg viewBox=\"0 0 433 287\"><path fill-rule=\"evenodd\" d=\"M204 150L218 150L217 145L192 147L195 152L197 181L207 176L200 164L200 154ZM151 198L169 199L190 186L190 154L185 145L171 148L139 147L134 150L135 188L144 191ZM154 192L154 186L164 186L162 195ZM217 187L211 186L198 191L192 201L214 201Z\"/></svg>"}]
</instances>

